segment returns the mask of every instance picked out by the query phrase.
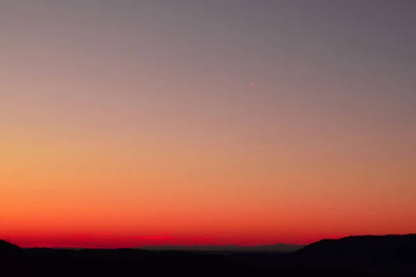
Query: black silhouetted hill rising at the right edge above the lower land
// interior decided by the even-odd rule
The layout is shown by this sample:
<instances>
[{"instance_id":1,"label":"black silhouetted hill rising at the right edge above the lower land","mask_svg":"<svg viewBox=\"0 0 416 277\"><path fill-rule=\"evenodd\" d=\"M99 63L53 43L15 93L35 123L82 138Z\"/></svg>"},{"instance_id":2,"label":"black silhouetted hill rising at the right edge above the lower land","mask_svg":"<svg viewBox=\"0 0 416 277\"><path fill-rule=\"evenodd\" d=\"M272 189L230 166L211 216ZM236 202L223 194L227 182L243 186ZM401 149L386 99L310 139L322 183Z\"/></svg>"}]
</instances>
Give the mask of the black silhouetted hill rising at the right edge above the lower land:
<instances>
[{"instance_id":1,"label":"black silhouetted hill rising at the right edge above the lower land","mask_svg":"<svg viewBox=\"0 0 416 277\"><path fill-rule=\"evenodd\" d=\"M285 259L285 262L297 264L416 274L416 235L363 235L320 240L288 254Z\"/></svg>"}]
</instances>

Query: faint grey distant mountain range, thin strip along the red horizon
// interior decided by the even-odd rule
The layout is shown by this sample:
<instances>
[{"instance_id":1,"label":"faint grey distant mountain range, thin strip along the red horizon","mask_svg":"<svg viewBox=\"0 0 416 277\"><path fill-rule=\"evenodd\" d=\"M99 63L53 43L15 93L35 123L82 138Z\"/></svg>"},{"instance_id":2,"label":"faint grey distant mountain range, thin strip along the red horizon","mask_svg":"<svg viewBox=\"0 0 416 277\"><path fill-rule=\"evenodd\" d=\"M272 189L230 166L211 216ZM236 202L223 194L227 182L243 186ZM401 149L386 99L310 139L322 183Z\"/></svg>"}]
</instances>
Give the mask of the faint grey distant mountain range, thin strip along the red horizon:
<instances>
[{"instance_id":1,"label":"faint grey distant mountain range, thin strip along the red horizon","mask_svg":"<svg viewBox=\"0 0 416 277\"><path fill-rule=\"evenodd\" d=\"M193 246L183 246L183 245L162 245L162 246L150 246L150 247L140 247L140 249L145 250L154 250L154 251L166 251L166 250L176 250L176 251L264 251L264 252L291 252L297 251L304 247L304 245L295 245L295 244L272 244L272 245L259 245L252 247L239 247L236 245L193 245Z\"/></svg>"}]
</instances>

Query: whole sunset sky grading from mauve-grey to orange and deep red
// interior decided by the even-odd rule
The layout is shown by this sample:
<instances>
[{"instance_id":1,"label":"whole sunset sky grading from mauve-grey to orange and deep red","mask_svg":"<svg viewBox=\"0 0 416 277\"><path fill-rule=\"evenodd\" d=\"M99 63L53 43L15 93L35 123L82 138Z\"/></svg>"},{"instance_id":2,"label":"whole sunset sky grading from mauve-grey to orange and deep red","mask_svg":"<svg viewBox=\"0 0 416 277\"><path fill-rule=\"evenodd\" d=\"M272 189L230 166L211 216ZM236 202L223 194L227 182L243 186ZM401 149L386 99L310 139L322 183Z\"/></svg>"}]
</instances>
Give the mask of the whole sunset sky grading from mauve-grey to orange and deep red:
<instances>
[{"instance_id":1,"label":"whole sunset sky grading from mauve-grey to orange and deep red","mask_svg":"<svg viewBox=\"0 0 416 277\"><path fill-rule=\"evenodd\" d=\"M406 0L1 1L0 238L415 233L415 12Z\"/></svg>"}]
</instances>

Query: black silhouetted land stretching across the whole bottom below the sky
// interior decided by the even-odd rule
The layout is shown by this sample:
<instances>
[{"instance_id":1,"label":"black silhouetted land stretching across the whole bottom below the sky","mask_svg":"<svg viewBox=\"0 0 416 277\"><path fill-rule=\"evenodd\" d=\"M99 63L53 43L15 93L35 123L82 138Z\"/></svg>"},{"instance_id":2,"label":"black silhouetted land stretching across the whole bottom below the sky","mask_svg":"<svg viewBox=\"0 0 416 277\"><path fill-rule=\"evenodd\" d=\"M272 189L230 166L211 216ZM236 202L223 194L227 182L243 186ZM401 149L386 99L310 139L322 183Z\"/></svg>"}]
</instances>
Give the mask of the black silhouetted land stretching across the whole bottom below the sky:
<instances>
[{"instance_id":1,"label":"black silhouetted land stretching across the whole bottom below the sky","mask_svg":"<svg viewBox=\"0 0 416 277\"><path fill-rule=\"evenodd\" d=\"M416 235L321 240L291 252L21 249L0 240L0 276L416 276Z\"/></svg>"}]
</instances>

